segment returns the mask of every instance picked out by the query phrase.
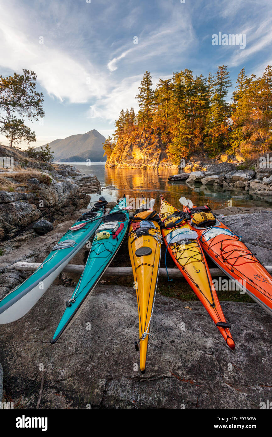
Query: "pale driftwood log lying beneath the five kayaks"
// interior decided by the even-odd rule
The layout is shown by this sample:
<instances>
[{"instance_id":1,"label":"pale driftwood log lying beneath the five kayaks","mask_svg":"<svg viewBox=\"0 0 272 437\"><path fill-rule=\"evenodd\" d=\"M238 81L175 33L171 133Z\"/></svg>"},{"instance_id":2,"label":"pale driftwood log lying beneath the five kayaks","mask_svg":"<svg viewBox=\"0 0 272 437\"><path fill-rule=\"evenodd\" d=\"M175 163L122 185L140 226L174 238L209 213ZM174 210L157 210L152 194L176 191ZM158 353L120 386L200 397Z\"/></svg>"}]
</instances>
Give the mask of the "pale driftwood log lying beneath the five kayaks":
<instances>
[{"instance_id":1,"label":"pale driftwood log lying beneath the five kayaks","mask_svg":"<svg viewBox=\"0 0 272 437\"><path fill-rule=\"evenodd\" d=\"M41 263L28 263L26 261L17 261L17 263L13 264L13 267L16 270L19 271L35 271L38 269L38 267L41 266ZM272 273L272 266L263 266L265 269L270 273ZM63 268L63 272L65 273L82 273L84 270L84 266L82 264L67 264ZM169 274L172 277L180 277L183 278L181 271L177 268L167 268L169 271ZM212 277L217 276L228 276L227 273L222 270L220 267L216 268L210 268L210 274ZM132 275L132 268L131 267L108 267L107 270L105 270L103 276L130 276ZM162 277L167 277L166 269L160 268L159 269L159 275Z\"/></svg>"}]
</instances>

